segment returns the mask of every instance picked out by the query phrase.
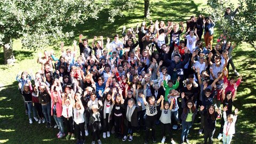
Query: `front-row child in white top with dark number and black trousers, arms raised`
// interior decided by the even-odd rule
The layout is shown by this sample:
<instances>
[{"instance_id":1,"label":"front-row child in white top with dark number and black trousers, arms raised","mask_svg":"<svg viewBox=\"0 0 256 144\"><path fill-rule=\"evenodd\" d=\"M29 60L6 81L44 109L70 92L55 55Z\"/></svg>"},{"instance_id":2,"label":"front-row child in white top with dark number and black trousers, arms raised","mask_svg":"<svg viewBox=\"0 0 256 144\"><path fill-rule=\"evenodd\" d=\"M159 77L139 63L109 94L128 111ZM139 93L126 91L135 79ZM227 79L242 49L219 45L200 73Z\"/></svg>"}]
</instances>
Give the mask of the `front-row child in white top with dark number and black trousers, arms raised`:
<instances>
[{"instance_id":1,"label":"front-row child in white top with dark number and black trousers, arms raised","mask_svg":"<svg viewBox=\"0 0 256 144\"><path fill-rule=\"evenodd\" d=\"M148 143L148 136L149 136L149 131L151 129L152 131L152 139L153 142L156 142L156 137L155 137L155 124L156 124L156 119L157 119L157 110L156 107L159 106L159 103L161 101L161 98L155 102L155 97L151 96L148 98L148 102L146 101L145 95L141 94L141 97L143 98L144 105L146 107L146 139L144 144Z\"/></svg>"}]
</instances>

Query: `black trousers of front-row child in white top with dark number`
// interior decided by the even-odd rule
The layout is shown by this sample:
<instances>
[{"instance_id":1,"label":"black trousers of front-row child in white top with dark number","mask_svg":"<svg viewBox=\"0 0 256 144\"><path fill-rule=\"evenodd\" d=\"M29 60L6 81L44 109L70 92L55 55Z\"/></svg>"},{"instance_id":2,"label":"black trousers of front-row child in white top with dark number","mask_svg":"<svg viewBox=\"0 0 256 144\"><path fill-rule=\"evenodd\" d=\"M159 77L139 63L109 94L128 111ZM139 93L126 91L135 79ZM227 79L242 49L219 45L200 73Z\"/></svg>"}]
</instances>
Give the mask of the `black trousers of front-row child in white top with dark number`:
<instances>
[{"instance_id":1,"label":"black trousers of front-row child in white top with dark number","mask_svg":"<svg viewBox=\"0 0 256 144\"><path fill-rule=\"evenodd\" d=\"M156 118L157 118L157 115L154 115L154 116L146 115L146 140L148 140L150 129L152 130L152 137L155 138Z\"/></svg>"}]
</instances>

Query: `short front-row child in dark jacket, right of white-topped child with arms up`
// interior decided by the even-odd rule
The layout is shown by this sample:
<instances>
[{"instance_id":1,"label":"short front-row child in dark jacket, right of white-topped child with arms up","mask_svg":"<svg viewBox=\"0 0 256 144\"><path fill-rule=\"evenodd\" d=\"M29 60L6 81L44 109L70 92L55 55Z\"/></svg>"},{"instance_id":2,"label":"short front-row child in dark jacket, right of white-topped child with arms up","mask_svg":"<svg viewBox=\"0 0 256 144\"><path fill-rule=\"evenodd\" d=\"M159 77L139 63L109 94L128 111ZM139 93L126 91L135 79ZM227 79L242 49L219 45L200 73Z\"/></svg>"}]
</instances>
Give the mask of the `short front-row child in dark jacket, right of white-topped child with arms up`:
<instances>
[{"instance_id":1,"label":"short front-row child in dark jacket, right of white-topped child with arms up","mask_svg":"<svg viewBox=\"0 0 256 144\"><path fill-rule=\"evenodd\" d=\"M89 125L91 126L92 129L92 144L95 144L95 138L98 138L98 143L101 144L100 141L100 131L101 131L101 116L100 116L100 112L102 109L102 102L101 100L98 101L98 104L100 107L98 107L98 105L92 105L92 107L88 107L89 113L91 114L90 116L90 121L89 121Z\"/></svg>"}]
</instances>

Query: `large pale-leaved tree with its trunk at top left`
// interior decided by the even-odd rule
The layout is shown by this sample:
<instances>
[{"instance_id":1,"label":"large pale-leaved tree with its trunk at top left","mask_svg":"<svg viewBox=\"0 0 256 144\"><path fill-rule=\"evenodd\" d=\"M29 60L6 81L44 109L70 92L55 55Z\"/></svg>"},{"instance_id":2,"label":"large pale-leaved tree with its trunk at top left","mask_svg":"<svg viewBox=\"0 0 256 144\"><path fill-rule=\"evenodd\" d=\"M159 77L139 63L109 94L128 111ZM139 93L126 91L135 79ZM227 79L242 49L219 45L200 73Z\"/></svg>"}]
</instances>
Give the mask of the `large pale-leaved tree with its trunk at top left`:
<instances>
[{"instance_id":1,"label":"large pale-leaved tree with its trunk at top left","mask_svg":"<svg viewBox=\"0 0 256 144\"><path fill-rule=\"evenodd\" d=\"M5 64L15 61L12 39L20 38L22 47L43 49L60 38L74 36L73 31L63 29L88 18L97 19L105 8L109 10L109 21L113 22L116 15L132 6L128 0L1 0L0 45L4 49Z\"/></svg>"}]
</instances>

